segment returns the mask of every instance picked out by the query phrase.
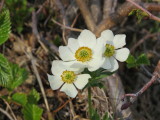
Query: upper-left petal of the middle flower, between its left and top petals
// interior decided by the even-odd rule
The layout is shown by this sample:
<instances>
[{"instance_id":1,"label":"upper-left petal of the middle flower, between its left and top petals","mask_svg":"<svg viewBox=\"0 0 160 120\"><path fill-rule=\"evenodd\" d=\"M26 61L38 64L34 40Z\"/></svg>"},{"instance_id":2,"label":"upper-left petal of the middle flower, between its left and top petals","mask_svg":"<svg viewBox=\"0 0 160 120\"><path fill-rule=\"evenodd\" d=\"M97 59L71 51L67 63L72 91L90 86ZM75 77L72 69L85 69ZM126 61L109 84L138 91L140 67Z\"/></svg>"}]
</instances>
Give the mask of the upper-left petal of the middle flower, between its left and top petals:
<instances>
[{"instance_id":1,"label":"upper-left petal of the middle flower, between its left and top petals","mask_svg":"<svg viewBox=\"0 0 160 120\"><path fill-rule=\"evenodd\" d=\"M68 47L71 49L73 53L76 52L76 50L79 48L78 40L74 38L69 38L68 40Z\"/></svg>"}]
</instances>

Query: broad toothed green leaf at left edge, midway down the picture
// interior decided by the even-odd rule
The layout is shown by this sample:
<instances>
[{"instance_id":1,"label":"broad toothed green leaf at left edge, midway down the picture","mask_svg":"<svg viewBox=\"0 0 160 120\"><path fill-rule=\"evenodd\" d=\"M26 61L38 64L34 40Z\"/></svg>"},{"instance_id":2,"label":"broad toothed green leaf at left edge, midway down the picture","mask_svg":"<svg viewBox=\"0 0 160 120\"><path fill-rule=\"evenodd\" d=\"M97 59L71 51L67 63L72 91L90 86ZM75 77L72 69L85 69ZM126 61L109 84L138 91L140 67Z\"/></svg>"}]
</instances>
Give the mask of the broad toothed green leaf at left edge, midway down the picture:
<instances>
[{"instance_id":1,"label":"broad toothed green leaf at left edge, midway down the picture","mask_svg":"<svg viewBox=\"0 0 160 120\"><path fill-rule=\"evenodd\" d=\"M0 86L12 91L27 79L28 72L17 64L10 63L0 54Z\"/></svg>"}]
</instances>

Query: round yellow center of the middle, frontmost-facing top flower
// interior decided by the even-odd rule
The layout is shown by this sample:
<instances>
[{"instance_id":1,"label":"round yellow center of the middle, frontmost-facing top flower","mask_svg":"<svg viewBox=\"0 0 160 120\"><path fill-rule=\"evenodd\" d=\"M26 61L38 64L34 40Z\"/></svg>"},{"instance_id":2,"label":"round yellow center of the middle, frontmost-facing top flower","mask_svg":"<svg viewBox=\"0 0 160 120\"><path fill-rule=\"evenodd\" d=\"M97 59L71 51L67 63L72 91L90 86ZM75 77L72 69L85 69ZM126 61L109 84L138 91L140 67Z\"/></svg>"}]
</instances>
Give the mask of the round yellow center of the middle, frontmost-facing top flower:
<instances>
[{"instance_id":1,"label":"round yellow center of the middle, frontmost-facing top flower","mask_svg":"<svg viewBox=\"0 0 160 120\"><path fill-rule=\"evenodd\" d=\"M81 62L89 61L92 59L92 50L88 47L80 47L75 53L75 58Z\"/></svg>"}]
</instances>

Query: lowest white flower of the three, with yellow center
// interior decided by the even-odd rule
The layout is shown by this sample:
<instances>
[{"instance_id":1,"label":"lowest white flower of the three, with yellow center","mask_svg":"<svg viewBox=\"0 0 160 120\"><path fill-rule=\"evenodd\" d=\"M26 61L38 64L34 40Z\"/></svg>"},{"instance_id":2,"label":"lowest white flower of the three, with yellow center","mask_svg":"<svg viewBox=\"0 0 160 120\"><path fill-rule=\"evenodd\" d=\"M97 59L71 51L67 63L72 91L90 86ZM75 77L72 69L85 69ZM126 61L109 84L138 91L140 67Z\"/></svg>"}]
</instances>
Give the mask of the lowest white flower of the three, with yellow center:
<instances>
[{"instance_id":1,"label":"lowest white flower of the three, with yellow center","mask_svg":"<svg viewBox=\"0 0 160 120\"><path fill-rule=\"evenodd\" d=\"M70 68L69 63L55 60L52 63L52 74L48 75L50 86L53 90L59 89L65 92L68 96L76 97L78 89L83 89L91 78L89 74L80 74L83 71L81 68Z\"/></svg>"}]
</instances>

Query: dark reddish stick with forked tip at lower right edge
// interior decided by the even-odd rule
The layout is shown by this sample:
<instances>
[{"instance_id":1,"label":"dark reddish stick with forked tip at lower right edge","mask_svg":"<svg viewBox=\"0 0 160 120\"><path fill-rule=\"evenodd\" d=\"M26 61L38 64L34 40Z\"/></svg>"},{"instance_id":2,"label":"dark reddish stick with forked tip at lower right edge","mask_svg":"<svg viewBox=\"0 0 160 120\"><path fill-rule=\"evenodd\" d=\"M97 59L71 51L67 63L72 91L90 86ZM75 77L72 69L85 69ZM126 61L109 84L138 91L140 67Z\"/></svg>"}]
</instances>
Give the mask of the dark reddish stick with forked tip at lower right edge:
<instances>
[{"instance_id":1,"label":"dark reddish stick with forked tip at lower right edge","mask_svg":"<svg viewBox=\"0 0 160 120\"><path fill-rule=\"evenodd\" d=\"M122 96L122 100L125 97L130 97L130 101L126 102L122 105L121 110L127 109L128 107L130 107L136 100L137 98L143 94L153 83L155 83L158 79L160 78L160 60L155 68L155 71L153 73L153 76L151 78L151 80L145 84L137 93L134 94L125 94ZM159 81L160 82L160 81Z\"/></svg>"}]
</instances>

